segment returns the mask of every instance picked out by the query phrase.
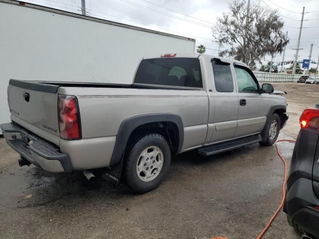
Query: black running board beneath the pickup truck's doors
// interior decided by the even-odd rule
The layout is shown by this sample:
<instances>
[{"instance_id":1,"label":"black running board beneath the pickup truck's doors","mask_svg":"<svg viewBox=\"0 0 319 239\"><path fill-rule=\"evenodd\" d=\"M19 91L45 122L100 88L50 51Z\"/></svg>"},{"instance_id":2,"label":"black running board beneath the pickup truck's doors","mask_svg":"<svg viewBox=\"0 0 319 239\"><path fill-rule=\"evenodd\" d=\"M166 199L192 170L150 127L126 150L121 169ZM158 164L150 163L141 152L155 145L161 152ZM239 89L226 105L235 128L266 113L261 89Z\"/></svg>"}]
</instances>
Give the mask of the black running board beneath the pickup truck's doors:
<instances>
[{"instance_id":1,"label":"black running board beneath the pickup truck's doors","mask_svg":"<svg viewBox=\"0 0 319 239\"><path fill-rule=\"evenodd\" d=\"M234 139L227 142L204 146L198 149L198 153L205 156L210 156L216 153L221 153L221 152L225 152L235 148L240 148L242 146L246 146L252 143L258 143L261 140L262 139L260 134L252 135L252 136L248 136L244 138Z\"/></svg>"}]
</instances>

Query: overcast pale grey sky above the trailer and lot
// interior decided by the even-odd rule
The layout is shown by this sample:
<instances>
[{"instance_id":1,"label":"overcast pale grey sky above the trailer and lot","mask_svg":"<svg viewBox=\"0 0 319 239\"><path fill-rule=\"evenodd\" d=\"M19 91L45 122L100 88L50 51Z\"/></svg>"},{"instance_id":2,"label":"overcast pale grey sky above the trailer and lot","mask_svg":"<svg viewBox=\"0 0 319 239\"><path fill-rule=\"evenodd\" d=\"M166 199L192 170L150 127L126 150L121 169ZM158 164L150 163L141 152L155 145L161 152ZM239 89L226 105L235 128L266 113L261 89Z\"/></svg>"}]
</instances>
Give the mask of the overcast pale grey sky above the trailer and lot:
<instances>
[{"instance_id":1,"label":"overcast pale grey sky above the trailer and lot","mask_svg":"<svg viewBox=\"0 0 319 239\"><path fill-rule=\"evenodd\" d=\"M319 57L319 1L307 0L251 0L275 9L278 8L285 28L288 30L290 43L286 49L285 60L294 60L301 23L302 10L305 6L305 21L302 29L299 60L308 59L310 45L314 43L312 59ZM81 13L81 0L26 0L39 5ZM218 45L212 42L210 26L217 16L228 11L226 0L86 0L87 14L130 25L150 28L176 35L196 39L196 45L206 46L207 54L217 54ZM155 4L154 4L155 3ZM277 5L276 5L277 4ZM183 14L180 14L180 13ZM179 19L177 19L179 18ZM227 47L226 47L227 48ZM271 57L265 58L270 60ZM279 54L274 62L282 61ZM314 65L315 66L315 65Z\"/></svg>"}]
</instances>

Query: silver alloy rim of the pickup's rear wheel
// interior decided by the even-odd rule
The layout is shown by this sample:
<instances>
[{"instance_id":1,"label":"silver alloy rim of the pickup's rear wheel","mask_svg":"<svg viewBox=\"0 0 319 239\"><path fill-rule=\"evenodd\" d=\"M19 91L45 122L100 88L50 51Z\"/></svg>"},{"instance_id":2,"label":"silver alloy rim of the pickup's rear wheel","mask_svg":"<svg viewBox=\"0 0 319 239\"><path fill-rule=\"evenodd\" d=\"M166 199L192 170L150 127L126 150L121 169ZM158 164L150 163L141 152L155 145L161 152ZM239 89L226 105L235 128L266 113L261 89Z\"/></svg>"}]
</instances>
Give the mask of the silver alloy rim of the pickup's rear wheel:
<instances>
[{"instance_id":1,"label":"silver alloy rim of the pickup's rear wheel","mask_svg":"<svg viewBox=\"0 0 319 239\"><path fill-rule=\"evenodd\" d=\"M163 162L164 155L159 147L147 147L140 154L136 165L138 177L144 182L154 180L157 176L159 176L163 167Z\"/></svg>"}]
</instances>

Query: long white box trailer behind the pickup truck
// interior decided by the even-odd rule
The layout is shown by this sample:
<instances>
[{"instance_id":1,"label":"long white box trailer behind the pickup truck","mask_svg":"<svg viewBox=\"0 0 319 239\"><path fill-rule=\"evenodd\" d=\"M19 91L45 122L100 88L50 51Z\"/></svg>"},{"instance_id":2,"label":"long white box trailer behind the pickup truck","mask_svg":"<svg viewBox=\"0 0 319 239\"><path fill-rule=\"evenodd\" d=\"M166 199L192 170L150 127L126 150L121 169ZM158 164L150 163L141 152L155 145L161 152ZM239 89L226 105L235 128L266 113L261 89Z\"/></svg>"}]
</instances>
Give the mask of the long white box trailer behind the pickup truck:
<instances>
[{"instance_id":1,"label":"long white box trailer behind the pickup truck","mask_svg":"<svg viewBox=\"0 0 319 239\"><path fill-rule=\"evenodd\" d=\"M194 49L192 38L0 0L0 123L9 79L130 84L144 56Z\"/></svg>"}]
</instances>

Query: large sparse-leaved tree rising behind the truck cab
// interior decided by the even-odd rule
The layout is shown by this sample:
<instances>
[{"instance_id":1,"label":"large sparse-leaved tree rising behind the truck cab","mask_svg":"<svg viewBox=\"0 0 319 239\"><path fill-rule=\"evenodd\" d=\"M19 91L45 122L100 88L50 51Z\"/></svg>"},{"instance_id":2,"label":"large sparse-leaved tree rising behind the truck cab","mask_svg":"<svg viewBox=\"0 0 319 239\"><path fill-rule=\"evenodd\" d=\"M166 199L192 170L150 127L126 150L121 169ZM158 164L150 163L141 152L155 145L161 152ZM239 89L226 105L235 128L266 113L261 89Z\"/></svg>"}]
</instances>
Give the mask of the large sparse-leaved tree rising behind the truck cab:
<instances>
[{"instance_id":1,"label":"large sparse-leaved tree rising behind the truck cab","mask_svg":"<svg viewBox=\"0 0 319 239\"><path fill-rule=\"evenodd\" d=\"M230 46L220 52L221 56L232 57L253 68L265 55L275 56L283 51L289 42L282 32L283 26L278 10L252 3L247 16L245 2L233 0L229 11L217 17L212 32L215 42Z\"/></svg>"}]
</instances>

